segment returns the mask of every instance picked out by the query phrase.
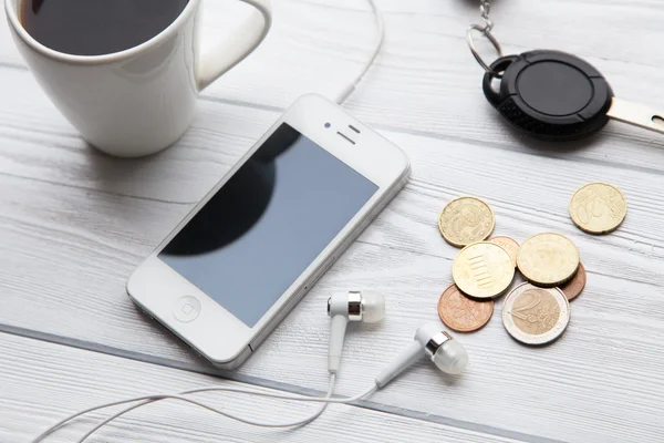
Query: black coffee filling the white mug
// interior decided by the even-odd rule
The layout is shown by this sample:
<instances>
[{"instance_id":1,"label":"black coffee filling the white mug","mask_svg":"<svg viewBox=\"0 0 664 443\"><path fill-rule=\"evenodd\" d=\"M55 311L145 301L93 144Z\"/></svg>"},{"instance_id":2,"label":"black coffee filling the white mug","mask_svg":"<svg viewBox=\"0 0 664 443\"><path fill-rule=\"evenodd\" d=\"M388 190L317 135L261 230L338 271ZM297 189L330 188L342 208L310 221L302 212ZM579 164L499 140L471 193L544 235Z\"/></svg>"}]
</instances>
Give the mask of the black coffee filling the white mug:
<instances>
[{"instance_id":1,"label":"black coffee filling the white mug","mask_svg":"<svg viewBox=\"0 0 664 443\"><path fill-rule=\"evenodd\" d=\"M100 55L152 39L188 0L21 0L21 23L55 51Z\"/></svg>"}]
</instances>

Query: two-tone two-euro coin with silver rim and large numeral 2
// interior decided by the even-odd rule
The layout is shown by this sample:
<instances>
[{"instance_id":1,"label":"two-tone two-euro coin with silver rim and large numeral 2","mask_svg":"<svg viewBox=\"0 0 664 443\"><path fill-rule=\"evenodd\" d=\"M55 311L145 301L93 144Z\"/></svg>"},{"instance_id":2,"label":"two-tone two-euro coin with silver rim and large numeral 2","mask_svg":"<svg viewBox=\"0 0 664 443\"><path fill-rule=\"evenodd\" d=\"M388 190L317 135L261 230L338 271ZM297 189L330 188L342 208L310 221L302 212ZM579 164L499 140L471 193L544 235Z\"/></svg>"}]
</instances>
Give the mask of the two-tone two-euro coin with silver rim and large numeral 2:
<instances>
[{"instance_id":1,"label":"two-tone two-euro coin with silver rim and large numeral 2","mask_svg":"<svg viewBox=\"0 0 664 443\"><path fill-rule=\"evenodd\" d=\"M502 324L516 340L544 344L559 338L570 322L570 303L558 288L517 286L502 303Z\"/></svg>"}]
</instances>

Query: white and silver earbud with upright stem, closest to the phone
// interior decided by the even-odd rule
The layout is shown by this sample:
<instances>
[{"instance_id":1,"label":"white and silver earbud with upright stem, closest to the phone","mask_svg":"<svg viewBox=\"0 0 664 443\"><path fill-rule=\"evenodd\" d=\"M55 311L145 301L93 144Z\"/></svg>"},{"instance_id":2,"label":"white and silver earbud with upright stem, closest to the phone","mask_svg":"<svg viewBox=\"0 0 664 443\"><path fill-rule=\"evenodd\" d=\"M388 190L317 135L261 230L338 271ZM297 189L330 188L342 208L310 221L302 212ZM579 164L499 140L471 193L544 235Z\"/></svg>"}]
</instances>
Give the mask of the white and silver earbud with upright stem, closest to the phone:
<instances>
[{"instance_id":1,"label":"white and silver earbud with upright stem, closest to the phone","mask_svg":"<svg viewBox=\"0 0 664 443\"><path fill-rule=\"evenodd\" d=\"M336 373L341 364L341 351L349 321L374 323L385 317L385 298L381 293L351 291L332 296L328 300L328 316L332 318L330 327L330 347L328 349L328 370Z\"/></svg>"}]
</instances>

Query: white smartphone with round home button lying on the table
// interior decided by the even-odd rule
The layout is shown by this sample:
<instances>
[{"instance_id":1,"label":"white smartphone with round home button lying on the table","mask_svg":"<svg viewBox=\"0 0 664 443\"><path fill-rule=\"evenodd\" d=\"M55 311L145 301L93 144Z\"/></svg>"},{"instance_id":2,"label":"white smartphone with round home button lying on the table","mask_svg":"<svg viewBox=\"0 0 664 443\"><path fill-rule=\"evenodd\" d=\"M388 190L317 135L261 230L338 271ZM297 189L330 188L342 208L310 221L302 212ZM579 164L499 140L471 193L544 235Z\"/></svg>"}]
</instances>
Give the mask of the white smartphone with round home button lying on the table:
<instances>
[{"instance_id":1,"label":"white smartphone with round home button lying on the table","mask_svg":"<svg viewBox=\"0 0 664 443\"><path fill-rule=\"evenodd\" d=\"M127 293L234 369L404 186L405 154L300 97L136 269Z\"/></svg>"}]
</instances>

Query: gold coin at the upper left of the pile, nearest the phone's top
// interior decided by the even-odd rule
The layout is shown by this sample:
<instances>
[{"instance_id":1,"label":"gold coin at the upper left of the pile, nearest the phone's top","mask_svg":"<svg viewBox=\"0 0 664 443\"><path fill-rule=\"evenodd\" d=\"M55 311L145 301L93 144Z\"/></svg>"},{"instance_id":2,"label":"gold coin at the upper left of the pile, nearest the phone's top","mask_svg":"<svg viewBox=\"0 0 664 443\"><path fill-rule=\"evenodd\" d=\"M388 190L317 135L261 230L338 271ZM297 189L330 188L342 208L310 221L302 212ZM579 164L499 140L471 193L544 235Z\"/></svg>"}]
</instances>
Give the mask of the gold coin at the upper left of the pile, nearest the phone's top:
<instances>
[{"instance_id":1,"label":"gold coin at the upper left of the pile, nearest the phone's top","mask_svg":"<svg viewBox=\"0 0 664 443\"><path fill-rule=\"evenodd\" d=\"M438 229L443 238L457 247L485 240L495 225L491 207L476 197L456 198L438 216Z\"/></svg>"}]
</instances>

